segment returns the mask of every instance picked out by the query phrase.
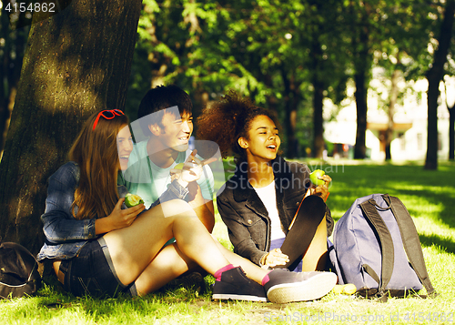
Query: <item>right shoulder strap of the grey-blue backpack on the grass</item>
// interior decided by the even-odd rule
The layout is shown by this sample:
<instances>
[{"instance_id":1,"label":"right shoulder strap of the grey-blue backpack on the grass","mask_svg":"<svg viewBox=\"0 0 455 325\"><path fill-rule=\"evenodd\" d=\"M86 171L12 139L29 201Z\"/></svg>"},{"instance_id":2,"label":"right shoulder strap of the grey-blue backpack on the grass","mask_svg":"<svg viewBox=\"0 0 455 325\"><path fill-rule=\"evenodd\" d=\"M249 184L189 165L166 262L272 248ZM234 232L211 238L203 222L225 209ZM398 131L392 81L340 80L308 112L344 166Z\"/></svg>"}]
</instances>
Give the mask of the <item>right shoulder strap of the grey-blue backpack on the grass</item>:
<instances>
[{"instance_id":1,"label":"right shoulder strap of the grey-blue backpack on the grass","mask_svg":"<svg viewBox=\"0 0 455 325\"><path fill-rule=\"evenodd\" d=\"M406 255L410 259L410 265L415 270L425 289L427 289L428 295L430 297L438 296L438 293L431 285L430 277L425 266L425 259L423 258L419 234L417 233L414 221L410 217L410 212L399 198L389 197L388 194L384 194L382 197L389 204L393 216L397 220L401 241L403 242Z\"/></svg>"}]
</instances>

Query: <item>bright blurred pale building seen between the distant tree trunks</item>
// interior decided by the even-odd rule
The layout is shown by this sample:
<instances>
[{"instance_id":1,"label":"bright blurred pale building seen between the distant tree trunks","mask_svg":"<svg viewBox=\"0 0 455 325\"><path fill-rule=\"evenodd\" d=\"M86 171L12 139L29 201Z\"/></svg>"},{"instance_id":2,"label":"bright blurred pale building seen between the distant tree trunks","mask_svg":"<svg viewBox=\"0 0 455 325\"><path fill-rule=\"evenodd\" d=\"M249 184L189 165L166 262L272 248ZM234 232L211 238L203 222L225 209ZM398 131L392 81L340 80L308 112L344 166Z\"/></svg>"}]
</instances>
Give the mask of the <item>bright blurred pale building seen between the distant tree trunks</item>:
<instances>
[{"instance_id":1,"label":"bright blurred pale building seen between the distant tree trunks","mask_svg":"<svg viewBox=\"0 0 455 325\"><path fill-rule=\"evenodd\" d=\"M395 107L393 140L390 144L392 160L425 160L428 127L427 86L426 80L416 82L410 96L405 94L401 105ZM441 160L449 157L449 111L445 105L444 94L442 86L441 97L443 100L440 101L438 108L438 156ZM389 123L389 117L383 109L379 109L379 103L380 98L369 96L366 134L367 156L377 161L385 159L384 135ZM449 104L452 105L452 103ZM355 101L347 99L336 114L333 114L333 107L330 107L329 102L327 106L328 111L332 109L332 117L334 116L334 118L325 123L324 137L327 141L335 144L333 156L352 157L351 152L356 142L357 132ZM326 107L324 108L326 109Z\"/></svg>"}]
</instances>

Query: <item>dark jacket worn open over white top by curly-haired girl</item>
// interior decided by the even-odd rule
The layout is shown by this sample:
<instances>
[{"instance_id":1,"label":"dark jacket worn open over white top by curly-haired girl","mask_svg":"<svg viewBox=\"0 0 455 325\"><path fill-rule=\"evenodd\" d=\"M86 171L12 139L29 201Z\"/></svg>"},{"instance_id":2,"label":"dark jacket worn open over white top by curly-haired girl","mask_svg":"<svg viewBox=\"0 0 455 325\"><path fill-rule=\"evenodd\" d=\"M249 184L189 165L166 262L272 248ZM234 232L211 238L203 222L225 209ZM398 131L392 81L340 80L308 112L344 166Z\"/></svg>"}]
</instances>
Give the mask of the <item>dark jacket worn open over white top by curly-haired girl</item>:
<instances>
[{"instance_id":1,"label":"dark jacket worn open over white top by curly-haired girl","mask_svg":"<svg viewBox=\"0 0 455 325\"><path fill-rule=\"evenodd\" d=\"M245 163L246 164L246 163ZM309 168L282 157L272 160L275 176L278 216L285 234L304 197L309 183ZM245 169L245 170L244 170ZM238 166L226 187L217 194L218 212L227 225L234 252L260 265L260 259L270 249L270 218L267 208L249 184L246 168ZM333 219L327 208L328 236L333 229Z\"/></svg>"}]
</instances>

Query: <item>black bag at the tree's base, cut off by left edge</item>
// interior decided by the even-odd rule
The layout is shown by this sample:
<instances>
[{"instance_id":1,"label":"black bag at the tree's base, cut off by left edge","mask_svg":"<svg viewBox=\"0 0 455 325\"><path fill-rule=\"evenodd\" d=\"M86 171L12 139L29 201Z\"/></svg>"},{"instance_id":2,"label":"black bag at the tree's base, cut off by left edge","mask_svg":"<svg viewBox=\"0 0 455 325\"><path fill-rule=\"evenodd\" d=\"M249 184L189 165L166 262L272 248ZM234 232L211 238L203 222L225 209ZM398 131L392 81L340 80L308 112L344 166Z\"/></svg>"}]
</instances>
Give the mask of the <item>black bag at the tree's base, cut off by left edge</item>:
<instances>
[{"instance_id":1,"label":"black bag at the tree's base, cut off by left edge","mask_svg":"<svg viewBox=\"0 0 455 325\"><path fill-rule=\"evenodd\" d=\"M13 242L1 243L0 299L32 296L40 287L38 263L32 253Z\"/></svg>"}]
</instances>

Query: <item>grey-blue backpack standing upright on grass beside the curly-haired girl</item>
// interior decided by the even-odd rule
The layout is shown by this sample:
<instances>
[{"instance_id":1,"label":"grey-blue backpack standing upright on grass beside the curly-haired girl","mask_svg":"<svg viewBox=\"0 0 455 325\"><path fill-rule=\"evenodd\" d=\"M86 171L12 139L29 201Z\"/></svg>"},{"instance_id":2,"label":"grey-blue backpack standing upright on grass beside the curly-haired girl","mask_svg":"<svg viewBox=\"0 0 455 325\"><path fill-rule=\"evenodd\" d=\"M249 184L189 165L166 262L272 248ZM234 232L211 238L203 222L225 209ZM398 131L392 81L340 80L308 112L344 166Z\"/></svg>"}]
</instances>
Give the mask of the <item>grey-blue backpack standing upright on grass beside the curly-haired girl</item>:
<instances>
[{"instance_id":1,"label":"grey-blue backpack standing upright on grass beside the curly-haired girl","mask_svg":"<svg viewBox=\"0 0 455 325\"><path fill-rule=\"evenodd\" d=\"M358 198L335 224L333 241L329 257L339 284L355 284L361 296L386 301L417 294L422 284L429 296L437 295L417 229L399 198Z\"/></svg>"}]
</instances>

